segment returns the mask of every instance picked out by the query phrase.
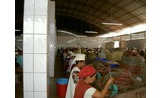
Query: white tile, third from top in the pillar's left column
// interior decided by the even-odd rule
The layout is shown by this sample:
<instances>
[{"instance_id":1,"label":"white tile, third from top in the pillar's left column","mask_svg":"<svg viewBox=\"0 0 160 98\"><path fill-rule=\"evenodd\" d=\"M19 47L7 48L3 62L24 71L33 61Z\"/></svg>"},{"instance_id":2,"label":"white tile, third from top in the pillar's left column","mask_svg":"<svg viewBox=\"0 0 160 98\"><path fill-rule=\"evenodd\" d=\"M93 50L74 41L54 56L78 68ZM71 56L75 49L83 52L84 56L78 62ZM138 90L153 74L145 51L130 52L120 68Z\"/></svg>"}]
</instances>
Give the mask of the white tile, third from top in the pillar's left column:
<instances>
[{"instance_id":1,"label":"white tile, third from top in the pillar's left column","mask_svg":"<svg viewBox=\"0 0 160 98\"><path fill-rule=\"evenodd\" d=\"M23 36L23 52L33 53L33 35Z\"/></svg>"}]
</instances>

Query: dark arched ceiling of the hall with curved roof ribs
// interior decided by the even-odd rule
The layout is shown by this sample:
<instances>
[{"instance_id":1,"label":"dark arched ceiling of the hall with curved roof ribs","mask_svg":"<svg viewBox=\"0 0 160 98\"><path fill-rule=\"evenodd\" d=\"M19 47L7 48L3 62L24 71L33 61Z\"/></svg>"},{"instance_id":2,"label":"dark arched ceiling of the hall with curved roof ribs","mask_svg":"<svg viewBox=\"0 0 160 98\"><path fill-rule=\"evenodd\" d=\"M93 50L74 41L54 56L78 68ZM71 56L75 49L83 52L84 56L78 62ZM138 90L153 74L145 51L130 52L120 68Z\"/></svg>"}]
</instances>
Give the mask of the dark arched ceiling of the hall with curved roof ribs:
<instances>
[{"instance_id":1,"label":"dark arched ceiling of the hall with curved roof ribs","mask_svg":"<svg viewBox=\"0 0 160 98\"><path fill-rule=\"evenodd\" d=\"M22 30L15 34L20 35L23 33L24 0L15 1L15 29ZM146 24L146 0L55 1L57 29L77 35L94 37L137 24ZM104 25L102 22L122 23L123 25ZM85 33L90 30L98 33Z\"/></svg>"}]
</instances>

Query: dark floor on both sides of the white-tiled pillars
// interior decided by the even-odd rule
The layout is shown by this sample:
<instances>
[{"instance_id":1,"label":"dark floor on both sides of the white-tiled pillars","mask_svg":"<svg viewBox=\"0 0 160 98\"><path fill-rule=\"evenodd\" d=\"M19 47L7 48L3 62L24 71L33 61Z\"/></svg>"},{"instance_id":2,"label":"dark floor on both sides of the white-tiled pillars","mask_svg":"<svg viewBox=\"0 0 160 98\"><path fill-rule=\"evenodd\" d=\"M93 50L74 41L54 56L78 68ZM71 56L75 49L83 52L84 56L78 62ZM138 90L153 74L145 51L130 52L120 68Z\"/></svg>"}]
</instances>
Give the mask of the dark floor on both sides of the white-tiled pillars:
<instances>
[{"instance_id":1,"label":"dark floor on both sides of the white-tiled pillars","mask_svg":"<svg viewBox=\"0 0 160 98\"><path fill-rule=\"evenodd\" d=\"M66 77L64 68L62 66L62 58L60 55L56 56L55 62L55 77L50 78L50 87L48 87L49 96L48 98L59 98L57 95L56 79ZM20 84L15 84L15 98L23 98L23 79L21 79Z\"/></svg>"}]
</instances>

